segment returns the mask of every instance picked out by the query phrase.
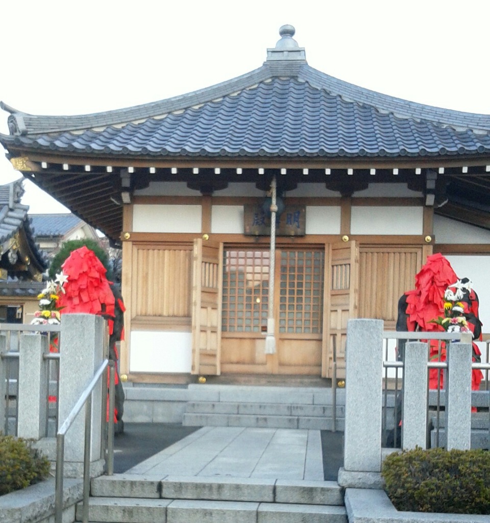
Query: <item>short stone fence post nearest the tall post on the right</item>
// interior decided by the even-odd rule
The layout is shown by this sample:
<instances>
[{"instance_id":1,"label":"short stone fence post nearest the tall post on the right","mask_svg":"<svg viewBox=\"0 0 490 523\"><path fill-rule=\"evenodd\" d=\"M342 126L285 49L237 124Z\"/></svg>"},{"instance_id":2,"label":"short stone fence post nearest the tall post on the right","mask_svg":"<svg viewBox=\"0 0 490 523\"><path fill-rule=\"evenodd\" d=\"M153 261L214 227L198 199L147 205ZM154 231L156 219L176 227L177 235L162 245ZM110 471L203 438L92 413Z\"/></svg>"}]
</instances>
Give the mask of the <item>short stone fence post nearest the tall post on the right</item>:
<instances>
[{"instance_id":1,"label":"short stone fence post nearest the tall post on the right","mask_svg":"<svg viewBox=\"0 0 490 523\"><path fill-rule=\"evenodd\" d=\"M416 446L427 448L427 385L427 344L407 343L403 368L404 450L414 449Z\"/></svg>"}]
</instances>

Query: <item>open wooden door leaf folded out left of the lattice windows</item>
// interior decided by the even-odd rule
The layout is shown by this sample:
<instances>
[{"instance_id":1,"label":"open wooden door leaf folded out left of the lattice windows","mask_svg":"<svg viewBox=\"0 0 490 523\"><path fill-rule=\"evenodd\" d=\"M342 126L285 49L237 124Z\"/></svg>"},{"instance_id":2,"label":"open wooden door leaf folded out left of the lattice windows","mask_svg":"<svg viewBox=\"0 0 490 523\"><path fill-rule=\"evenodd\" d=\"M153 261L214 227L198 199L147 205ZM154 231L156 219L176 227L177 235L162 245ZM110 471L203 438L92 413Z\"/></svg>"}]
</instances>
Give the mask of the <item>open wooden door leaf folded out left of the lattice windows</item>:
<instances>
[{"instance_id":1,"label":"open wooden door leaf folded out left of the lattice windows","mask_svg":"<svg viewBox=\"0 0 490 523\"><path fill-rule=\"evenodd\" d=\"M223 244L194 241L192 374L219 375Z\"/></svg>"}]
</instances>

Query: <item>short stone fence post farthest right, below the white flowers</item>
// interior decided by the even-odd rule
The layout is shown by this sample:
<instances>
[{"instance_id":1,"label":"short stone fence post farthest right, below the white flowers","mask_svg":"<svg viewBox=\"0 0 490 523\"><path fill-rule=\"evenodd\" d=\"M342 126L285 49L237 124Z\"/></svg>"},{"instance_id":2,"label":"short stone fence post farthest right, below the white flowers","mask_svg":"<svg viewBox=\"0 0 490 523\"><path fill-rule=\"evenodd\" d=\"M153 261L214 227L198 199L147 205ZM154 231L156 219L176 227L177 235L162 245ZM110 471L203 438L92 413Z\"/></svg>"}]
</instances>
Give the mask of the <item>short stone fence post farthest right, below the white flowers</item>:
<instances>
[{"instance_id":1,"label":"short stone fence post farthest right, below the white flowers","mask_svg":"<svg viewBox=\"0 0 490 523\"><path fill-rule=\"evenodd\" d=\"M446 448L467 450L471 446L471 342L451 343L447 352Z\"/></svg>"}]
</instances>

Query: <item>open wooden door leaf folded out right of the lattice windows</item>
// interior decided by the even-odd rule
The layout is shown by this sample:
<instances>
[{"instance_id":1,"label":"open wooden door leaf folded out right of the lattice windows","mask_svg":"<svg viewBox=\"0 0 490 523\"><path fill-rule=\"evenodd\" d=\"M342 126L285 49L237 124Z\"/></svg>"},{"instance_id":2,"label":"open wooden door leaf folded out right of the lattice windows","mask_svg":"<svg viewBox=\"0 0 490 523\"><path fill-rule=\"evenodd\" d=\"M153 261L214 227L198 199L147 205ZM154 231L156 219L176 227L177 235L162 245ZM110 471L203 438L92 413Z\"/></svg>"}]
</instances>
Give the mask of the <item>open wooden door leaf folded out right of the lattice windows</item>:
<instances>
[{"instance_id":1,"label":"open wooden door leaf folded out right of the lattice windows","mask_svg":"<svg viewBox=\"0 0 490 523\"><path fill-rule=\"evenodd\" d=\"M347 321L357 317L359 253L356 242L326 245L322 376L332 377L334 347L337 377L345 376Z\"/></svg>"}]
</instances>

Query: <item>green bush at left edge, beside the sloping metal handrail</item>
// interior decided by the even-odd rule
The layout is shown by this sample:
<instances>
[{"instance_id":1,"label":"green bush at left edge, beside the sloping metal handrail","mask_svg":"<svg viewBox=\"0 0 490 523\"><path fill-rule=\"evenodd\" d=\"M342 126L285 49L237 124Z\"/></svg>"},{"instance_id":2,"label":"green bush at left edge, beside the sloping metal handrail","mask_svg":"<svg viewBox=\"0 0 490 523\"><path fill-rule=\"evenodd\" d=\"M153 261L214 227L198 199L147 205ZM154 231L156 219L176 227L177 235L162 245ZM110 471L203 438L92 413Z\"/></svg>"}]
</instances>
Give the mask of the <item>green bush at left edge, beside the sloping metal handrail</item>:
<instances>
[{"instance_id":1,"label":"green bush at left edge, beside the sloping metal handrail","mask_svg":"<svg viewBox=\"0 0 490 523\"><path fill-rule=\"evenodd\" d=\"M45 479L50 462L33 449L31 441L0 435L0 495Z\"/></svg>"}]
</instances>

